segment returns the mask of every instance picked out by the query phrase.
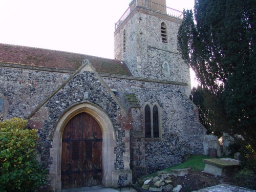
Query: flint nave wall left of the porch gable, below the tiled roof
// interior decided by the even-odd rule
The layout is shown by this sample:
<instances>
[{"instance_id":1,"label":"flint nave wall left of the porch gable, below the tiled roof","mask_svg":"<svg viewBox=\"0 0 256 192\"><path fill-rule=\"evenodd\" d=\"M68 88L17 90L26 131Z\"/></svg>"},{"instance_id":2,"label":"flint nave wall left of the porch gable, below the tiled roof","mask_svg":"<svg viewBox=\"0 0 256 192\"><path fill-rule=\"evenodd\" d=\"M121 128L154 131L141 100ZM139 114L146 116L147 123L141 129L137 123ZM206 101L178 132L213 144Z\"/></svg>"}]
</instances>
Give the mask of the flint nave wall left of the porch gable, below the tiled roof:
<instances>
[{"instance_id":1,"label":"flint nave wall left of the porch gable, below the tiled roof","mask_svg":"<svg viewBox=\"0 0 256 192\"><path fill-rule=\"evenodd\" d=\"M20 66L19 66L20 67ZM0 93L9 105L6 118L26 118L72 72L61 73L26 68L0 68Z\"/></svg>"}]
</instances>

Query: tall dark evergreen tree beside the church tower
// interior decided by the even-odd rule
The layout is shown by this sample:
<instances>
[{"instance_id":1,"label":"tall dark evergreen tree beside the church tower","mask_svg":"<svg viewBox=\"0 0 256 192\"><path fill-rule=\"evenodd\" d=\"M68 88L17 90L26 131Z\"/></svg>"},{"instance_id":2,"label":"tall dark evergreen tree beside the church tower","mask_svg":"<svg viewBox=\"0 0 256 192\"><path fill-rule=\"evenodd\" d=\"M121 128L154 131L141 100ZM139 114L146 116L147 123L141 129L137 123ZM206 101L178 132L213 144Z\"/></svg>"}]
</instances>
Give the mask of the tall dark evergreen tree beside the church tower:
<instances>
[{"instance_id":1,"label":"tall dark evergreen tree beside the church tower","mask_svg":"<svg viewBox=\"0 0 256 192\"><path fill-rule=\"evenodd\" d=\"M183 11L178 33L182 57L207 93L201 122L210 126L208 130L219 127L231 136L241 135L245 141L241 144L250 144L254 151L255 5L256 0L196 0L195 15Z\"/></svg>"}]
</instances>

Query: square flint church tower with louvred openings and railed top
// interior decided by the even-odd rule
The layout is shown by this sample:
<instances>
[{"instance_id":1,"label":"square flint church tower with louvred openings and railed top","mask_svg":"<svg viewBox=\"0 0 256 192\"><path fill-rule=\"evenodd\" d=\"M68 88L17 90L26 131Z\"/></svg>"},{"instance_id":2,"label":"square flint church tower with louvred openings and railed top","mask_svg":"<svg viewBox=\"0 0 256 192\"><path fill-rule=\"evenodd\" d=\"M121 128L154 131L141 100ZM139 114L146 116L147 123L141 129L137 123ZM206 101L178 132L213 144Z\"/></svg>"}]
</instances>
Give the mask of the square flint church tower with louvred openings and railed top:
<instances>
[{"instance_id":1,"label":"square flint church tower with louvred openings and railed top","mask_svg":"<svg viewBox=\"0 0 256 192\"><path fill-rule=\"evenodd\" d=\"M131 1L115 25L115 58L136 77L186 83L189 95L189 66L177 50L182 17L166 0Z\"/></svg>"}]
</instances>

